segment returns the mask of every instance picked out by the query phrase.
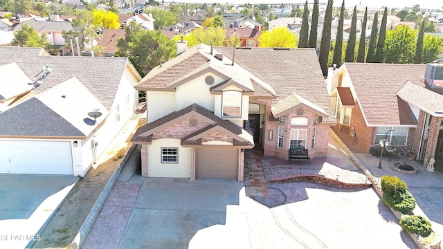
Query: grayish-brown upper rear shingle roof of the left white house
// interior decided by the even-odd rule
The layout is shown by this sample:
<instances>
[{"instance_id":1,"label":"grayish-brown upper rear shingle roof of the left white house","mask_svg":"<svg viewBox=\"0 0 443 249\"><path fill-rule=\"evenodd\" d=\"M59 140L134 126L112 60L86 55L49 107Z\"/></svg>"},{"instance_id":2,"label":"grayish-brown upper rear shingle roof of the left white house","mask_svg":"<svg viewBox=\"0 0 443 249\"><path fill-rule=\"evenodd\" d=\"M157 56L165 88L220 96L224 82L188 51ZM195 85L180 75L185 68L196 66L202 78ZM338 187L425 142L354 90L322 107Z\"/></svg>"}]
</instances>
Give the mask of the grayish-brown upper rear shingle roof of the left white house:
<instances>
[{"instance_id":1,"label":"grayish-brown upper rear shingle roof of the left white house","mask_svg":"<svg viewBox=\"0 0 443 249\"><path fill-rule=\"evenodd\" d=\"M57 84L76 77L105 106L111 109L127 58L38 56L41 48L0 47L0 65L15 62L24 73L36 82L42 75L42 67L52 69L35 89L42 93Z\"/></svg>"}]
</instances>

